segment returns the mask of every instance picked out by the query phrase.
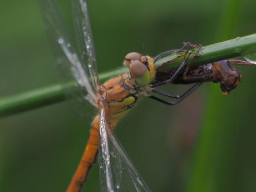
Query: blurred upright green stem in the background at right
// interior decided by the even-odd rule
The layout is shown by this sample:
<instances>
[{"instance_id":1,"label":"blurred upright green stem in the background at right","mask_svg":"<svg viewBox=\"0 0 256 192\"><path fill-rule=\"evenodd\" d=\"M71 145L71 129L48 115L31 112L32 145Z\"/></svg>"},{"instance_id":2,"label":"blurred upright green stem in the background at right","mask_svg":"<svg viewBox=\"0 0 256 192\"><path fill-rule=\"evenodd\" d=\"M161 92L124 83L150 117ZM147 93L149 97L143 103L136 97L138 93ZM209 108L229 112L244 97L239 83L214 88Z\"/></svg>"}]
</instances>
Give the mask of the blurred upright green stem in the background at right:
<instances>
[{"instance_id":1,"label":"blurred upright green stem in the background at right","mask_svg":"<svg viewBox=\"0 0 256 192\"><path fill-rule=\"evenodd\" d=\"M216 32L216 41L221 41L230 38L234 35L237 28L237 17L240 8L240 0L223 1L223 9L220 13L220 23ZM216 174L216 152L219 150L220 129L224 127L218 126L218 116L221 107L221 97L219 87L211 85L207 96L207 104L201 129L198 136L198 142L195 147L193 156L193 165L187 191L218 191L221 186L215 179Z\"/></svg>"}]
</instances>

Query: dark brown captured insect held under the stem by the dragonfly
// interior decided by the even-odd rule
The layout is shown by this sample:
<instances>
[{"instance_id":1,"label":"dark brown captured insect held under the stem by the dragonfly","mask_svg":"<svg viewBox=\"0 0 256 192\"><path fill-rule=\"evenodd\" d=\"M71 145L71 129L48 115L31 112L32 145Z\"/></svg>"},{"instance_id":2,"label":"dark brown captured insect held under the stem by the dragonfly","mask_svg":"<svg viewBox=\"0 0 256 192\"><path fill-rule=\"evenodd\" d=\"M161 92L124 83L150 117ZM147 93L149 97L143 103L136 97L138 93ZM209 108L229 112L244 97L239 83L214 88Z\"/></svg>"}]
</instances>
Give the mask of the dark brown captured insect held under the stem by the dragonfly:
<instances>
[{"instance_id":1,"label":"dark brown captured insect held under the stem by the dragonfly","mask_svg":"<svg viewBox=\"0 0 256 192\"><path fill-rule=\"evenodd\" d=\"M180 50L171 50L165 53L160 53L160 55L154 58L154 62L161 56L174 53L174 52L181 52L185 46L201 48L199 45L191 45L190 43L184 43L184 46L181 47ZM197 52L199 52L199 50ZM186 56L188 52L186 51L180 57ZM248 61L241 61L241 60L222 60L216 61L213 63L208 63L205 65L201 65L198 67L194 67L191 65L193 63L193 59L196 58L197 55L195 54L190 61L189 65L185 68L185 70L180 70L179 73L176 75L173 80L171 77L176 73L177 69L174 68L173 70L163 70L163 66L171 65L173 61L168 61L167 63L163 63L160 66L156 67L156 78L155 84L157 86L164 84L164 83L174 83L174 84L190 84L190 83L197 83L197 87L203 82L214 82L220 83L220 89L223 92L223 95L227 95L230 91L234 90L240 83L240 78L242 74L237 68L230 66L232 65L245 65L245 66L253 66L254 63ZM186 56L188 58L188 56ZM176 60L176 58L174 59ZM152 87L154 87L153 85Z\"/></svg>"}]
</instances>

